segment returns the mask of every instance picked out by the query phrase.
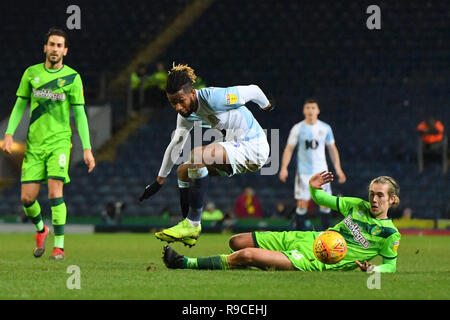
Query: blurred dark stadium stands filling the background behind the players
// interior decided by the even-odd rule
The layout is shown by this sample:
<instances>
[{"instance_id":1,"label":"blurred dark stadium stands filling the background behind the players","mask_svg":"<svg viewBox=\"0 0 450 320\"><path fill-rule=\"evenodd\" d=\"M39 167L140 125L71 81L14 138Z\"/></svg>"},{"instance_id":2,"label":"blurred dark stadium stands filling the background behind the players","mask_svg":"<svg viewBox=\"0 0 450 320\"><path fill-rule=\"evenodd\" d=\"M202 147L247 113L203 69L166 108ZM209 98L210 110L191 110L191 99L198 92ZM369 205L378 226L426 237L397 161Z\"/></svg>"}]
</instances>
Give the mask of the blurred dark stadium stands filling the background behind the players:
<instances>
[{"instance_id":1,"label":"blurred dark stadium stands filling the background behind the players","mask_svg":"<svg viewBox=\"0 0 450 320\"><path fill-rule=\"evenodd\" d=\"M381 10L379 30L366 25L371 4ZM74 12L67 13L70 5L80 9L80 29L67 27L73 23ZM303 101L317 98L319 119L333 128L347 175L345 184L333 183L335 195L367 198L370 180L389 175L401 187L400 207L391 212L393 218L405 216L406 222L399 221L398 226L448 226L449 174L439 155L419 172L416 134L418 123L429 115L439 119L446 132L450 125L446 1L24 1L2 2L0 15L2 136L23 71L44 61L44 34L56 26L69 35L64 63L84 82L97 161L88 174L80 162L74 126L72 182L64 188L69 224L100 228L109 221L104 216L107 210L120 212L123 228L131 223L158 227L170 217L180 217L176 167L154 198L142 204L137 200L156 178L175 129L176 112L155 74L159 63L167 71L175 61L193 67L202 78L199 85L259 85L276 109L266 113L250 106L250 110L268 132L279 130L279 140L269 140L271 155L278 154L280 165L289 130L303 119ZM145 76L131 81L140 64ZM25 141L27 117L28 112L15 135L17 142ZM24 218L22 152L18 144L13 156L0 156L4 222ZM259 226L288 229L295 207L295 167L294 156L286 183L278 173L212 178L208 201L233 218L236 199L251 187L261 203ZM44 218L49 218L45 186L38 201ZM280 203L286 210L277 213ZM416 221L408 219L409 213ZM309 214L319 215L314 206ZM25 223L32 232L32 225ZM314 224L321 228L320 219Z\"/></svg>"}]
</instances>

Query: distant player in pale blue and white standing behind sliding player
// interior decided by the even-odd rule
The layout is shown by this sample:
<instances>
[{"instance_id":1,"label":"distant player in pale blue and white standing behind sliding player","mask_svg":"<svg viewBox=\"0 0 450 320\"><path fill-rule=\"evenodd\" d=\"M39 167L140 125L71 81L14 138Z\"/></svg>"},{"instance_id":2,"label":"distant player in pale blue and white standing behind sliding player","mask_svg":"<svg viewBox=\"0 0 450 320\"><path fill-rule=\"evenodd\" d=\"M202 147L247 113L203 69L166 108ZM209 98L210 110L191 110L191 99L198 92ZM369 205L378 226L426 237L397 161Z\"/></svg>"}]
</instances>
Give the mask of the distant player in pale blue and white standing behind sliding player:
<instances>
[{"instance_id":1,"label":"distant player in pale blue and white standing behind sliding player","mask_svg":"<svg viewBox=\"0 0 450 320\"><path fill-rule=\"evenodd\" d=\"M319 120L319 113L320 109L317 100L307 99L303 105L305 119L295 124L289 133L279 174L280 180L286 182L289 162L291 161L295 148L297 148L297 172L295 176L297 209L295 220L296 229L302 231L311 229L311 222L306 216L308 203L311 199L308 181L315 172L328 170L325 146L327 146L331 161L336 170L338 182L344 183L347 179L341 168L341 161L334 141L333 130L327 123ZM331 195L331 186L329 183L325 184L323 189ZM327 229L331 223L331 210L322 206L319 210L322 213L322 227L323 229Z\"/></svg>"}]
</instances>

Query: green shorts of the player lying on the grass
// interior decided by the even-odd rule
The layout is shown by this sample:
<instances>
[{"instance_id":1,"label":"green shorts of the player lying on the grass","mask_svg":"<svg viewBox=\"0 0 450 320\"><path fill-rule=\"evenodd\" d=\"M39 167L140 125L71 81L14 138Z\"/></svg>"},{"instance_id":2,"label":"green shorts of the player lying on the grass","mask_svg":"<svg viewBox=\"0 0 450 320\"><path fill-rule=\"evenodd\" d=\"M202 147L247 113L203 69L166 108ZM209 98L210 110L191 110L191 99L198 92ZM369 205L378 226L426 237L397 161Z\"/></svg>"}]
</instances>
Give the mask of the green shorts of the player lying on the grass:
<instances>
[{"instance_id":1,"label":"green shorts of the player lying on the grass","mask_svg":"<svg viewBox=\"0 0 450 320\"><path fill-rule=\"evenodd\" d=\"M252 236L257 248L284 253L298 270L322 271L325 264L317 260L313 252L314 240L319 234L316 231L256 231Z\"/></svg>"}]
</instances>

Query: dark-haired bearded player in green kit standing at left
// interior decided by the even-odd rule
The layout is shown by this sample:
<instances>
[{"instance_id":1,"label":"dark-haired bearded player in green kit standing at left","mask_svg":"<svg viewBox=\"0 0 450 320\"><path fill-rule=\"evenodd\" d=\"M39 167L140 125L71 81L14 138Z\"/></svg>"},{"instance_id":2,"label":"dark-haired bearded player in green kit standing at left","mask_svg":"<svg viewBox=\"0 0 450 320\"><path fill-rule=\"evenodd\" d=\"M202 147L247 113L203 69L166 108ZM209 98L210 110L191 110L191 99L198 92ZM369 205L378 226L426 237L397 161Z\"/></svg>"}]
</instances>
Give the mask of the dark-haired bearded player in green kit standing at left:
<instances>
[{"instance_id":1,"label":"dark-haired bearded player in green kit standing at left","mask_svg":"<svg viewBox=\"0 0 450 320\"><path fill-rule=\"evenodd\" d=\"M45 240L49 229L44 225L41 208L36 199L41 183L48 183L48 198L55 234L51 256L54 260L65 258L64 225L67 209L63 186L70 182L68 172L72 147L71 106L88 171L91 172L95 167L84 111L81 77L74 69L63 64L63 57L67 55L67 45L67 35L63 30L51 28L45 35L45 62L25 70L2 146L6 153L12 152L14 132L27 104L30 104L30 123L22 163L21 201L25 214L36 227L36 247L33 255L39 258L45 252Z\"/></svg>"}]
</instances>

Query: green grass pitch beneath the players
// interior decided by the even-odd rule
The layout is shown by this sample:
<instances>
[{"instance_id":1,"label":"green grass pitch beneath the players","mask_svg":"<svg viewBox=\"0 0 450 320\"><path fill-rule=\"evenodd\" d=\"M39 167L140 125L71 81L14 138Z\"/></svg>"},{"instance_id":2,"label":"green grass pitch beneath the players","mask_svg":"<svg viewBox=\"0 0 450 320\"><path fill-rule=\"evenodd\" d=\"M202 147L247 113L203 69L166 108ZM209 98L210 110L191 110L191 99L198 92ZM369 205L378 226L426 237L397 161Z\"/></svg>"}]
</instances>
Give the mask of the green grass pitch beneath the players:
<instances>
[{"instance_id":1,"label":"green grass pitch beneath the players","mask_svg":"<svg viewBox=\"0 0 450 320\"><path fill-rule=\"evenodd\" d=\"M193 248L181 244L173 248L191 257L228 253L229 237L202 234ZM34 234L1 234L0 299L448 300L449 240L445 236L403 236L397 273L381 274L380 289L368 289L370 275L359 270L168 270L161 259L164 243L152 234L69 234L63 261L49 259L52 236L44 256L36 259L32 255ZM381 259L373 262L379 264ZM71 265L80 269L80 289L67 288Z\"/></svg>"}]
</instances>

